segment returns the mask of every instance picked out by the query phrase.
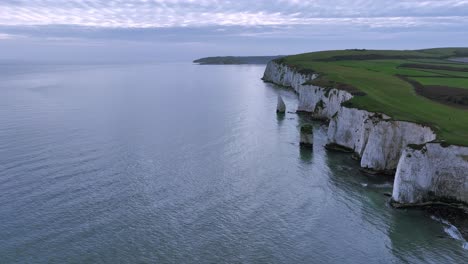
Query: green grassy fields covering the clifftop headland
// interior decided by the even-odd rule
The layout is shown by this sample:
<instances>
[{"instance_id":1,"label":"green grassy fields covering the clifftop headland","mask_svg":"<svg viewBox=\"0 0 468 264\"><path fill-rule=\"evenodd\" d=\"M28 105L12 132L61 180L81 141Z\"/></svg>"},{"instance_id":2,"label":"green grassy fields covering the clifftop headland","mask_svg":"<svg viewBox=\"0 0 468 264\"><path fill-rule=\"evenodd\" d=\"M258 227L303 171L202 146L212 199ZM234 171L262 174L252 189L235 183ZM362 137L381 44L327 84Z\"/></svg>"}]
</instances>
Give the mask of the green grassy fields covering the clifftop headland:
<instances>
[{"instance_id":1,"label":"green grassy fields covering the clifftop headland","mask_svg":"<svg viewBox=\"0 0 468 264\"><path fill-rule=\"evenodd\" d=\"M430 125L440 140L468 146L468 64L449 60L467 56L468 48L340 50L276 61L357 95L348 107Z\"/></svg>"}]
</instances>

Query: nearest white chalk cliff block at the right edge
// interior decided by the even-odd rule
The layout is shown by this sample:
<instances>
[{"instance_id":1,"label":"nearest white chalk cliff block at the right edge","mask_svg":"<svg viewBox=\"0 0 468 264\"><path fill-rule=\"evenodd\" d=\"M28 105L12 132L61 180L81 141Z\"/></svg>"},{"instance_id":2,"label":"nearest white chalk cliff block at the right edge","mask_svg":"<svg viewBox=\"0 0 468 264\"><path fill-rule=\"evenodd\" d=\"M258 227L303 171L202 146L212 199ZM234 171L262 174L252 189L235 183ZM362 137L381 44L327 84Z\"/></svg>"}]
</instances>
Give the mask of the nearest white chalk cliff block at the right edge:
<instances>
[{"instance_id":1,"label":"nearest white chalk cliff block at the right edge","mask_svg":"<svg viewBox=\"0 0 468 264\"><path fill-rule=\"evenodd\" d=\"M405 148L392 198L403 204L440 198L468 203L468 148L437 143Z\"/></svg>"}]
</instances>

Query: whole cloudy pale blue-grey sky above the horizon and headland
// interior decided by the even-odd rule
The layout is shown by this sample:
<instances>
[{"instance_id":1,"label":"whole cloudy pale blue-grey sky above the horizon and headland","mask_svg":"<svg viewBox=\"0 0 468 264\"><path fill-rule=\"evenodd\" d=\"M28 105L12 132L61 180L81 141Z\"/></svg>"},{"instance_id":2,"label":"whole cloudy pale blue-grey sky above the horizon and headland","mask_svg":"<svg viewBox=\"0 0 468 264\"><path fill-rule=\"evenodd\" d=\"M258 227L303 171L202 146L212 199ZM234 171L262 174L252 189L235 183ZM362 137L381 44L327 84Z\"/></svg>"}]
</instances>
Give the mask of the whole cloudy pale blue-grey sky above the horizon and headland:
<instances>
[{"instance_id":1,"label":"whole cloudy pale blue-grey sky above the horizon and headland","mask_svg":"<svg viewBox=\"0 0 468 264\"><path fill-rule=\"evenodd\" d=\"M468 0L0 0L0 60L468 46Z\"/></svg>"}]
</instances>

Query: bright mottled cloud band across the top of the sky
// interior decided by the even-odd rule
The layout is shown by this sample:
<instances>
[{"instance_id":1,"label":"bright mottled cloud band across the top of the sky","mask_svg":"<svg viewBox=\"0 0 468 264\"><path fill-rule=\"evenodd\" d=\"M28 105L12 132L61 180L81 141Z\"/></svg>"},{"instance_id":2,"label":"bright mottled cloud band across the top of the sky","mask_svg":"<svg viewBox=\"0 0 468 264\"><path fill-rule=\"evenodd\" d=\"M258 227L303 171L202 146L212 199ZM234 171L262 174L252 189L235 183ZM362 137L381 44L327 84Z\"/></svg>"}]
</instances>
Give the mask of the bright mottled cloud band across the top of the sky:
<instances>
[{"instance_id":1,"label":"bright mottled cloud band across the top of the sky","mask_svg":"<svg viewBox=\"0 0 468 264\"><path fill-rule=\"evenodd\" d=\"M467 10L468 0L4 0L0 25L414 27L466 23Z\"/></svg>"}]
</instances>

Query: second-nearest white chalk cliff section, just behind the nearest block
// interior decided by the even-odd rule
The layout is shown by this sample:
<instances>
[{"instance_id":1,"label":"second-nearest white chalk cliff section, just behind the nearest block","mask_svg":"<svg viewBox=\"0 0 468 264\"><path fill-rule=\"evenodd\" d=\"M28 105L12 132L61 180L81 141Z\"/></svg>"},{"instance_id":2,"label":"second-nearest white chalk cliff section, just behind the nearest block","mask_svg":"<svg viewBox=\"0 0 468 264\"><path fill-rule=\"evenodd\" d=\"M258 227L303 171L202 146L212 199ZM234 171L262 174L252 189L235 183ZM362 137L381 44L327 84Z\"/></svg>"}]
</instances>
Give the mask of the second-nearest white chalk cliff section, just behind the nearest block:
<instances>
[{"instance_id":1,"label":"second-nearest white chalk cliff section, just behind the nearest block","mask_svg":"<svg viewBox=\"0 0 468 264\"><path fill-rule=\"evenodd\" d=\"M329 143L352 149L361 157L361 167L385 173L394 172L408 144L435 138L429 127L346 107L340 109L328 128Z\"/></svg>"}]
</instances>

